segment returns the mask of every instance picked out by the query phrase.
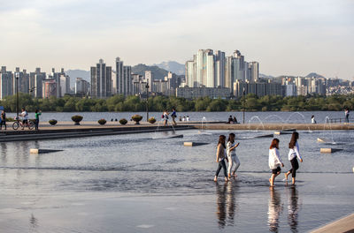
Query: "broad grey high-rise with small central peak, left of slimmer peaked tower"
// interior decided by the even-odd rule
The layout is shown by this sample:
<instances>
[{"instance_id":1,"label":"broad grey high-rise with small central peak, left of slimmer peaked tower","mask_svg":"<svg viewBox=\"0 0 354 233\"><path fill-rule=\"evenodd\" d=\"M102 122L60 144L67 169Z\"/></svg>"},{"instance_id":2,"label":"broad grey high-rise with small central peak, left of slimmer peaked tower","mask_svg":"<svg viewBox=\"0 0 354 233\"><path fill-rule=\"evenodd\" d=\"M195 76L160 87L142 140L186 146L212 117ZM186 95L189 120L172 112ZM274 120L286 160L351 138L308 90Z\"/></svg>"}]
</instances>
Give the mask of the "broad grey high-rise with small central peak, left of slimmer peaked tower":
<instances>
[{"instance_id":1,"label":"broad grey high-rise with small central peak, left of slimmer peaked tower","mask_svg":"<svg viewBox=\"0 0 354 233\"><path fill-rule=\"evenodd\" d=\"M91 97L106 98L112 91L112 67L106 66L100 59L96 66L91 66Z\"/></svg>"}]
</instances>

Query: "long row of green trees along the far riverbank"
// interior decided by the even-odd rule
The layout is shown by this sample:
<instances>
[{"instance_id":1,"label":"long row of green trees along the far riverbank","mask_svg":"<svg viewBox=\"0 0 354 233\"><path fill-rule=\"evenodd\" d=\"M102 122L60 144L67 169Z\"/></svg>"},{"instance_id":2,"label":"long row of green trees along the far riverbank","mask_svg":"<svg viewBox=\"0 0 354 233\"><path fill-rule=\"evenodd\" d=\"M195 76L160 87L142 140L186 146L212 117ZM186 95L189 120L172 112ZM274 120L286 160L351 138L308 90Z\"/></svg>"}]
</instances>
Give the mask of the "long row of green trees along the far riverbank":
<instances>
[{"instance_id":1,"label":"long row of green trees along the far riverbank","mask_svg":"<svg viewBox=\"0 0 354 233\"><path fill-rule=\"evenodd\" d=\"M7 96L0 101L6 111L16 111L16 96ZM146 100L138 96L114 95L107 99L89 99L74 96L49 99L34 98L29 94L19 94L19 109L28 111L145 111ZM209 97L187 100L177 97L155 96L149 98L150 111L164 111L175 108L177 111L305 111L342 110L354 108L354 95L331 96L263 96L248 94L238 100L211 99Z\"/></svg>"}]
</instances>

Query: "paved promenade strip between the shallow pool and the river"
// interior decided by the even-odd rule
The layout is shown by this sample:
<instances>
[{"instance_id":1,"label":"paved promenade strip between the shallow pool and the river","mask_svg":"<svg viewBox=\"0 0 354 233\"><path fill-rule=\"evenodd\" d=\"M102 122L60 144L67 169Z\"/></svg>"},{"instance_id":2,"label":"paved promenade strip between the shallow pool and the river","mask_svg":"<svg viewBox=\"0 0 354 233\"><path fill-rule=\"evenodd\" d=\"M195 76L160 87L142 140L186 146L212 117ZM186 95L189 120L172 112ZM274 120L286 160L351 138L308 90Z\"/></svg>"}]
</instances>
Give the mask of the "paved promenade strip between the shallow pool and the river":
<instances>
[{"instance_id":1,"label":"paved promenade strip between the shallow pool and the river","mask_svg":"<svg viewBox=\"0 0 354 233\"><path fill-rule=\"evenodd\" d=\"M81 125L74 125L73 122L61 122L56 125L48 123L40 124L40 131L34 130L17 130L12 129L12 123L8 123L7 130L0 131L0 142L6 141L22 141L22 140L40 140L40 139L67 139L81 138L94 136L107 136L116 134L140 133L140 132L162 132L162 131L179 131L189 129L203 130L265 130L265 131L322 131L322 130L354 130L354 124L226 124L226 123L201 123L188 122L179 123L176 126L169 124L163 126L161 123L150 124L142 122L134 124L129 122L126 125L121 125L118 122L108 122L100 125L96 122L82 122Z\"/></svg>"}]
</instances>

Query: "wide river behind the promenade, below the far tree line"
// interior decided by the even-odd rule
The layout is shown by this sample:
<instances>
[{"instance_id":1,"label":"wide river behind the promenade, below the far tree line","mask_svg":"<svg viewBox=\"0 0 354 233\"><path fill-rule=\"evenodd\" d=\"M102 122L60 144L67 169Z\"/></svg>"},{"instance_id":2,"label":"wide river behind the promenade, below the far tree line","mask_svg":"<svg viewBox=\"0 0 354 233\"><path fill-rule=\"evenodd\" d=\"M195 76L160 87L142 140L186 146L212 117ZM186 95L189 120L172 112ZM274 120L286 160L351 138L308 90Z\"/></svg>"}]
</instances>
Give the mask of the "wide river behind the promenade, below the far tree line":
<instances>
[{"instance_id":1,"label":"wide river behind the promenade, below the far tree line","mask_svg":"<svg viewBox=\"0 0 354 233\"><path fill-rule=\"evenodd\" d=\"M60 121L71 121L74 115L83 116L83 121L97 121L99 119L130 119L131 116L139 114L145 121L146 112L45 112L42 113L41 121L56 119ZM162 113L150 112L150 117L161 119ZM264 123L311 123L311 116L314 115L318 123L324 123L326 116L329 118L344 118L344 111L304 111L304 112L245 112L245 123L258 123L261 120ZM9 113L7 116L15 116ZM34 113L29 113L31 118ZM239 122L242 122L242 112L177 112L178 117L189 116L190 121L202 121L203 117L207 121L227 121L228 116L236 116ZM255 116L258 116L255 117ZM258 120L259 119L259 120Z\"/></svg>"}]
</instances>

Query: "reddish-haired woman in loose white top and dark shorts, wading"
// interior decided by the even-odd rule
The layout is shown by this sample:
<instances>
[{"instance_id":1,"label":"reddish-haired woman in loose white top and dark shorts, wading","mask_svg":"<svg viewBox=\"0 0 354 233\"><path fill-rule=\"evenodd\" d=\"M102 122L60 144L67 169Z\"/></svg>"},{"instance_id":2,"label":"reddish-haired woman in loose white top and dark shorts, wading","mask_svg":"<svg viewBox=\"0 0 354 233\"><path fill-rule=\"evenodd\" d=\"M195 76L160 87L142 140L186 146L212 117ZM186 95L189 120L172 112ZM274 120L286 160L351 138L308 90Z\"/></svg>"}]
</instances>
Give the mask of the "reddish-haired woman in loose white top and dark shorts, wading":
<instances>
[{"instance_id":1,"label":"reddish-haired woman in loose white top and dark shorts, wading","mask_svg":"<svg viewBox=\"0 0 354 233\"><path fill-rule=\"evenodd\" d=\"M272 169L272 176L269 178L271 187L274 186L274 179L281 174L281 167L284 167L284 163L281 162L279 155L279 139L273 139L271 147L269 147L269 168Z\"/></svg>"}]
</instances>

